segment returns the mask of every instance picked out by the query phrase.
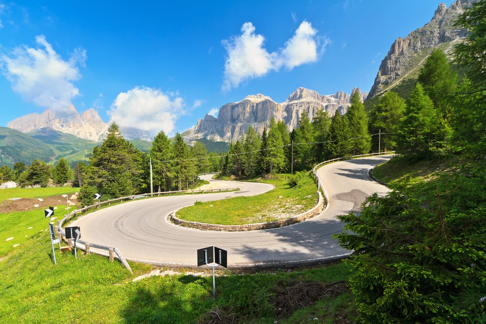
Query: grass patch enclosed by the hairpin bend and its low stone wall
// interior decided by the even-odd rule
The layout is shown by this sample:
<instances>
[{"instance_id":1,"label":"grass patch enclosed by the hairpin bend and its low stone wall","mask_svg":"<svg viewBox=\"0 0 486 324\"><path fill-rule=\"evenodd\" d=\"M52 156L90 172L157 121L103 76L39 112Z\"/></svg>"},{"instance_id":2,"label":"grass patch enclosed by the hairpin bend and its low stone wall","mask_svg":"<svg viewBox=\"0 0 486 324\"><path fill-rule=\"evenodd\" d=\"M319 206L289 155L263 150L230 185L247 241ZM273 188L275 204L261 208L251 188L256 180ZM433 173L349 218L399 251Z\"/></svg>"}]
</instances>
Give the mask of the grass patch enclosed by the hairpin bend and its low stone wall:
<instances>
[{"instance_id":1,"label":"grass patch enclosed by the hairpin bend and its low stone wall","mask_svg":"<svg viewBox=\"0 0 486 324\"><path fill-rule=\"evenodd\" d=\"M251 197L236 197L195 205L177 211L176 217L190 222L220 225L242 225L272 222L303 213L317 204L317 188L310 172L302 176L299 184L291 188L286 175L273 179L248 179L275 186L275 189ZM229 178L224 178L225 180Z\"/></svg>"}]
</instances>

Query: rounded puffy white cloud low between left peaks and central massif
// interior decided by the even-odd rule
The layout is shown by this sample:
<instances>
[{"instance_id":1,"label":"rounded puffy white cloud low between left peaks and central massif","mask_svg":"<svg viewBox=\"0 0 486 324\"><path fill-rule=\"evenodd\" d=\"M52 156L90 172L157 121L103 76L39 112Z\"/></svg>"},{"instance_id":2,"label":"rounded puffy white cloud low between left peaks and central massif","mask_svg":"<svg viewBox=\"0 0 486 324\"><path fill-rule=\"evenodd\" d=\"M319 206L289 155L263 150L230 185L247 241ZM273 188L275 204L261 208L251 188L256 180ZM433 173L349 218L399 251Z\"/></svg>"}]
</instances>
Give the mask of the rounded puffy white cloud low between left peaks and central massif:
<instances>
[{"instance_id":1,"label":"rounded puffy white cloud low between left peaks and central massif","mask_svg":"<svg viewBox=\"0 0 486 324\"><path fill-rule=\"evenodd\" d=\"M121 127L134 127L155 136L160 130L172 135L175 121L186 114L184 100L160 90L137 86L121 92L108 111Z\"/></svg>"}]
</instances>

